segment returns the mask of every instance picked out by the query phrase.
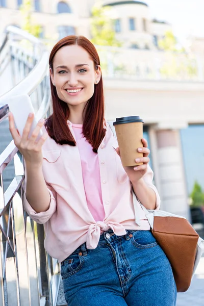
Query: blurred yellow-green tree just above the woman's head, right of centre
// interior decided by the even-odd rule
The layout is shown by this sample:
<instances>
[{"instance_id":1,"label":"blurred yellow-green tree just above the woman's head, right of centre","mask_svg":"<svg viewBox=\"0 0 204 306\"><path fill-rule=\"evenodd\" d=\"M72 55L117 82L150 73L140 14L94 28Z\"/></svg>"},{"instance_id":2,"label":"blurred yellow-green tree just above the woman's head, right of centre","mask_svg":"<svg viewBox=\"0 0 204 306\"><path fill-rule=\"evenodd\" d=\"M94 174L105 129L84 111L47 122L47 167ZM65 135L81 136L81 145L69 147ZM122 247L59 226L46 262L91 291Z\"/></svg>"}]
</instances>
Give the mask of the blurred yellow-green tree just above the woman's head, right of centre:
<instances>
[{"instance_id":1,"label":"blurred yellow-green tree just above the woman's head, right of centre","mask_svg":"<svg viewBox=\"0 0 204 306\"><path fill-rule=\"evenodd\" d=\"M114 20L109 17L109 7L96 4L92 8L91 36L92 43L100 46L121 46L116 39L114 31Z\"/></svg>"}]
</instances>

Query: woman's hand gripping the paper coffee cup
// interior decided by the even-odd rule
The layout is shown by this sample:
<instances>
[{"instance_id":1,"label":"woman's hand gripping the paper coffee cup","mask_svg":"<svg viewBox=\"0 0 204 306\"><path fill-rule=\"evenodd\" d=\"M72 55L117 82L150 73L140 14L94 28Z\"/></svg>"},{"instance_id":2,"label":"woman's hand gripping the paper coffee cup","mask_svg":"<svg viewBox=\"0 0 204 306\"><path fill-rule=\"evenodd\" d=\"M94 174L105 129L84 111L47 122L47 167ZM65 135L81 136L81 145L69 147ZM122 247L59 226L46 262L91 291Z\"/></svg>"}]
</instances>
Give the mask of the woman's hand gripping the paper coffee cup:
<instances>
[{"instance_id":1,"label":"woman's hand gripping the paper coffee cup","mask_svg":"<svg viewBox=\"0 0 204 306\"><path fill-rule=\"evenodd\" d=\"M130 167L124 167L125 172L129 176L129 179L132 183L138 182L146 173L147 171L147 164L149 162L148 155L150 153L148 147L147 147L147 141L146 139L142 138L143 147L137 148L136 150L140 153L143 153L143 157L136 159L136 163L143 163L143 165L138 166L130 166ZM117 154L120 156L120 150L119 148L116 149Z\"/></svg>"}]
</instances>

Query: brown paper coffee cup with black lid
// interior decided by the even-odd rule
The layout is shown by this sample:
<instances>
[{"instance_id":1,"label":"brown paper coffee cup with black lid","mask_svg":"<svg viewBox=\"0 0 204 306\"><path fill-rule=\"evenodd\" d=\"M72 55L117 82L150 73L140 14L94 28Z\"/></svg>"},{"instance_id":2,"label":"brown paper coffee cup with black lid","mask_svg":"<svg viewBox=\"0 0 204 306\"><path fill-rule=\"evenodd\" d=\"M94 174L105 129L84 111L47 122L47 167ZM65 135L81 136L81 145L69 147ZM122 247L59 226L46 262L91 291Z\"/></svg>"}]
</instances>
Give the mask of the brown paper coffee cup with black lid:
<instances>
[{"instance_id":1,"label":"brown paper coffee cup with black lid","mask_svg":"<svg viewBox=\"0 0 204 306\"><path fill-rule=\"evenodd\" d=\"M137 151L143 147L143 120L139 116L116 118L113 122L117 135L120 157L123 167L138 166L136 158L143 157L143 153Z\"/></svg>"}]
</instances>

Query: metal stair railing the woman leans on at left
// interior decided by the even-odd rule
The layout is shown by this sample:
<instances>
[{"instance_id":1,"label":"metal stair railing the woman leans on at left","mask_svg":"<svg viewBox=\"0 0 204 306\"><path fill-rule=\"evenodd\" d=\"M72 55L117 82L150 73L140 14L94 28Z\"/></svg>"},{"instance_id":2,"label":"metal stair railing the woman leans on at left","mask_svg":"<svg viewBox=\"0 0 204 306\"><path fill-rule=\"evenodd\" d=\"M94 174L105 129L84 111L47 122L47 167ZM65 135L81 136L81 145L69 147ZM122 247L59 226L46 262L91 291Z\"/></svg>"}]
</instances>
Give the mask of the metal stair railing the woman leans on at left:
<instances>
[{"instance_id":1,"label":"metal stair railing the woman leans on at left","mask_svg":"<svg viewBox=\"0 0 204 306\"><path fill-rule=\"evenodd\" d=\"M56 305L59 264L46 253L43 225L23 210L23 158L11 140L8 106L17 94L29 94L38 118L50 114L48 54L38 39L8 27L0 47L0 305ZM10 79L5 75L10 69ZM5 84L5 86L4 86ZM2 87L3 86L3 87ZM11 89L12 88L12 89ZM20 107L20 106L19 106ZM23 111L23 110L22 110ZM11 140L8 143L8 139Z\"/></svg>"}]
</instances>

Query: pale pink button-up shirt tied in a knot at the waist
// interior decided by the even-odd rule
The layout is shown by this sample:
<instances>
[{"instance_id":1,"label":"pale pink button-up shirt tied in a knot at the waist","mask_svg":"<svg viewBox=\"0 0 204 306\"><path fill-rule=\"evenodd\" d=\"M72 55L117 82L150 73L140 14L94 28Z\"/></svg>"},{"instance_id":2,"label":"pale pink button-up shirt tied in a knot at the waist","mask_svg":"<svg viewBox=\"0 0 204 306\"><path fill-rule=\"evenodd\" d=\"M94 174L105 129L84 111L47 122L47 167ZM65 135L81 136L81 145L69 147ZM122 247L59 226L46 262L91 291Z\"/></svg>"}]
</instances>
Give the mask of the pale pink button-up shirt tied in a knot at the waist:
<instances>
[{"instance_id":1,"label":"pale pink button-up shirt tied in a knot at the waist","mask_svg":"<svg viewBox=\"0 0 204 306\"><path fill-rule=\"evenodd\" d=\"M74 137L69 121L68 125ZM109 228L118 236L125 235L125 230L150 229L139 202L136 203L139 216L135 216L131 182L117 155L117 147L117 140L107 124L106 136L98 148L98 159L103 161L99 162L99 171L105 218L96 221L87 206L78 147L57 144L50 137L45 141L42 170L51 197L49 209L36 213L25 197L24 208L32 219L44 224L44 247L59 262L84 242L87 248L96 248L101 232ZM154 189L159 209L160 198L152 178L153 172L148 167L143 179ZM136 219L140 220L140 226Z\"/></svg>"}]
</instances>

